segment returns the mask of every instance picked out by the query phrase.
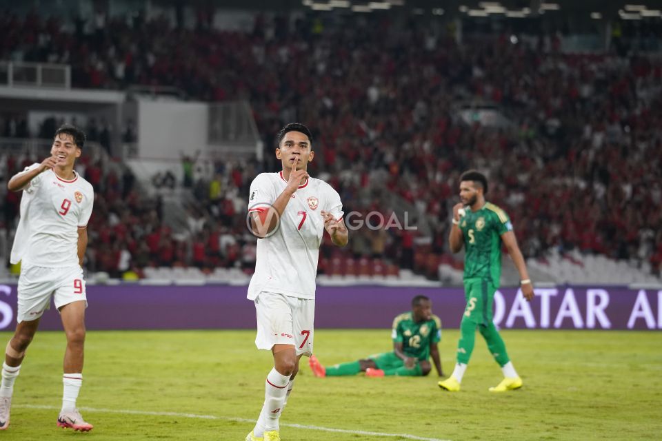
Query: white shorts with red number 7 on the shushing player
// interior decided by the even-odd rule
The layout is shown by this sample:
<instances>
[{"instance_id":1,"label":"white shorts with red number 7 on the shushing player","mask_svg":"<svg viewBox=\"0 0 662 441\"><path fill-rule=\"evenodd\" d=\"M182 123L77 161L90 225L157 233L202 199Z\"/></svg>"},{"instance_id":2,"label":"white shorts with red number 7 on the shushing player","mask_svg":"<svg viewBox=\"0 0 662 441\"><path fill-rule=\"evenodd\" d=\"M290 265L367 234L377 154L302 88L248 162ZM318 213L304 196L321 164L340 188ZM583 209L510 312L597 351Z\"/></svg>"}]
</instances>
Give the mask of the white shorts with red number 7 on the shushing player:
<instances>
[{"instance_id":1,"label":"white shorts with red number 7 on the shushing player","mask_svg":"<svg viewBox=\"0 0 662 441\"><path fill-rule=\"evenodd\" d=\"M255 302L257 349L294 345L297 356L310 357L314 336L315 300L262 291Z\"/></svg>"}]
</instances>

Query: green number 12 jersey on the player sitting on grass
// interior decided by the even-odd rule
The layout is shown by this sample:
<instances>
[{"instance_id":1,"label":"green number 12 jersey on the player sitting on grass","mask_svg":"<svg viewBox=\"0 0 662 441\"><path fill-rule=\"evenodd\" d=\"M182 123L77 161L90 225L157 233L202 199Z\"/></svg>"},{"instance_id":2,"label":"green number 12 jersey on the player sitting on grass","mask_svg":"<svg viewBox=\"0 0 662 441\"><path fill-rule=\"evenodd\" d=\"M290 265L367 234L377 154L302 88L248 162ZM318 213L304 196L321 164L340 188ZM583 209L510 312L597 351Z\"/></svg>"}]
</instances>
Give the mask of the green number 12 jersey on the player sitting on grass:
<instances>
[{"instance_id":1,"label":"green number 12 jersey on the player sitting on grass","mask_svg":"<svg viewBox=\"0 0 662 441\"><path fill-rule=\"evenodd\" d=\"M441 320L433 315L430 320L414 322L412 312L405 312L393 320L392 338L394 342L402 343L406 356L428 360L430 343L441 340Z\"/></svg>"}]
</instances>

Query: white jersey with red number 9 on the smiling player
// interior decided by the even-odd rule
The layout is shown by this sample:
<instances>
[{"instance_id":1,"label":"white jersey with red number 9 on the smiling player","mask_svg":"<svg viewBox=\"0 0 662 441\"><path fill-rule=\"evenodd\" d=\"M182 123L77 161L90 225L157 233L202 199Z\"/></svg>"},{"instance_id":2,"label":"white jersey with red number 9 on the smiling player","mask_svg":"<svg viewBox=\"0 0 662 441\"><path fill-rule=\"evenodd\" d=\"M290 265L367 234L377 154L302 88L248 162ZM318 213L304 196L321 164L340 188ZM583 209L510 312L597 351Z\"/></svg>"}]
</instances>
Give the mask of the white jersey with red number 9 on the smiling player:
<instances>
[{"instance_id":1,"label":"white jersey with red number 9 on the smiling player","mask_svg":"<svg viewBox=\"0 0 662 441\"><path fill-rule=\"evenodd\" d=\"M24 172L37 167L40 164L32 164ZM78 228L88 225L94 189L75 174L71 181L65 181L53 170L47 170L23 189L11 263L22 260L23 265L46 268L79 264Z\"/></svg>"}]
</instances>

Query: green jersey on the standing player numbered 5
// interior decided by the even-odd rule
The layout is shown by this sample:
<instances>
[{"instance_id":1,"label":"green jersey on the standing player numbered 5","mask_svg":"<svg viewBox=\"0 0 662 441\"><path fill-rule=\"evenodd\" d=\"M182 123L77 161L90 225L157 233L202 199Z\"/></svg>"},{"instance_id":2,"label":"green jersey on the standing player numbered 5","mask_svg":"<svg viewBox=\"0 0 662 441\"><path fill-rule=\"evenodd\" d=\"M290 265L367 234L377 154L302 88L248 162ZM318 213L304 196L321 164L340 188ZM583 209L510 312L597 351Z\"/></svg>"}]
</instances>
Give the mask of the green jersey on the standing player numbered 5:
<instances>
[{"instance_id":1,"label":"green jersey on the standing player numbered 5","mask_svg":"<svg viewBox=\"0 0 662 441\"><path fill-rule=\"evenodd\" d=\"M464 280L482 278L490 280L495 288L501 279L501 234L512 231L508 214L491 203L485 203L477 212L465 208L460 219L466 256Z\"/></svg>"}]
</instances>

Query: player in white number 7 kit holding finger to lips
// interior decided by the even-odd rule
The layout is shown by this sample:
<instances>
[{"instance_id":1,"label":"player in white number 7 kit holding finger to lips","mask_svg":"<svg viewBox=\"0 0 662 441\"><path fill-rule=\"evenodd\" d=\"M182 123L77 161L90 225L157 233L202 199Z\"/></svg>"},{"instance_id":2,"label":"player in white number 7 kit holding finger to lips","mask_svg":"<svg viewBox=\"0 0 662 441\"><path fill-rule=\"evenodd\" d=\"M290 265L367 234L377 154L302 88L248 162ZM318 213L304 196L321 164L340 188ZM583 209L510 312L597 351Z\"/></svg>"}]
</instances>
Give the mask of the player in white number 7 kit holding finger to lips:
<instances>
[{"instance_id":1,"label":"player in white number 7 kit holding finger to lips","mask_svg":"<svg viewBox=\"0 0 662 441\"><path fill-rule=\"evenodd\" d=\"M326 230L339 247L348 242L339 194L306 172L312 161L308 127L285 125L277 136L279 173L261 173L250 185L248 212L257 240L248 298L257 312L258 349L272 351L257 424L245 441L280 440L279 417L290 396L301 356L312 354L315 276Z\"/></svg>"}]
</instances>

